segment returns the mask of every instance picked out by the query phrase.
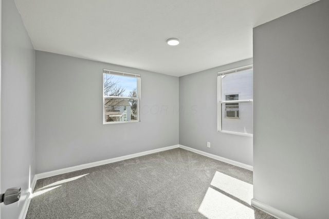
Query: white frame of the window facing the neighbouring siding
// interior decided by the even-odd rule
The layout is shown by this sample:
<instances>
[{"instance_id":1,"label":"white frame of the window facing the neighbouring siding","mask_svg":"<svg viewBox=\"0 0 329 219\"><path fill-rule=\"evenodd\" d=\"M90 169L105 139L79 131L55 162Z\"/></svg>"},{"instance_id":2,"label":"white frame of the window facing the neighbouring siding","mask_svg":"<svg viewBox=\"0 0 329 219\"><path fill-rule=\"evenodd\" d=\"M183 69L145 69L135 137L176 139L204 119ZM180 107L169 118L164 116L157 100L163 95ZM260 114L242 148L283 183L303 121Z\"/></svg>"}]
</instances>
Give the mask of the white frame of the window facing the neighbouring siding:
<instances>
[{"instance_id":1,"label":"white frame of the window facing the neighbouring siding","mask_svg":"<svg viewBox=\"0 0 329 219\"><path fill-rule=\"evenodd\" d=\"M250 69L253 69L252 64L242 66L242 67L238 67L238 68L228 69L228 70L225 70L225 71L220 71L220 72L217 73L217 131L218 132L236 134L236 135L243 135L243 136L251 136L251 137L253 136L253 134L250 134L250 133L226 131L226 130L223 130L223 127L222 127L223 104L227 104L227 103L251 103L251 104L253 104L253 99L239 99L239 100L235 100L235 101L226 101L225 99L223 100L222 99L222 95L223 95L223 93L222 93L222 78L225 75L228 75L228 74L239 73L239 72L243 72L243 71L250 70ZM224 94L224 96L225 96L225 94ZM225 113L225 116L226 116L226 106L225 106L225 112L224 113ZM233 117L228 117L228 118L233 118ZM234 118L235 119L240 118L240 115L239 115L239 117L234 117Z\"/></svg>"}]
</instances>

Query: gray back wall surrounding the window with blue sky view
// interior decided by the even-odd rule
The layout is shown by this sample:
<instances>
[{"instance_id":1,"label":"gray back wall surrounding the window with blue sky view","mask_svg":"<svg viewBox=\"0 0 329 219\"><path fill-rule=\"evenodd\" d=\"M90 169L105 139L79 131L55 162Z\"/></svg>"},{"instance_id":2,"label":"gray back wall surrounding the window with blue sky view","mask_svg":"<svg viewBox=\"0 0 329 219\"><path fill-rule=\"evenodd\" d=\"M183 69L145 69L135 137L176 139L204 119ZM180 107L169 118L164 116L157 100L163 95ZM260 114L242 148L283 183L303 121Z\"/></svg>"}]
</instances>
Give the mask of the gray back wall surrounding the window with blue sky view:
<instances>
[{"instance_id":1,"label":"gray back wall surrounding the window with blue sky view","mask_svg":"<svg viewBox=\"0 0 329 219\"><path fill-rule=\"evenodd\" d=\"M141 122L102 121L103 68L141 74ZM178 144L178 77L36 51L36 173Z\"/></svg>"}]
</instances>

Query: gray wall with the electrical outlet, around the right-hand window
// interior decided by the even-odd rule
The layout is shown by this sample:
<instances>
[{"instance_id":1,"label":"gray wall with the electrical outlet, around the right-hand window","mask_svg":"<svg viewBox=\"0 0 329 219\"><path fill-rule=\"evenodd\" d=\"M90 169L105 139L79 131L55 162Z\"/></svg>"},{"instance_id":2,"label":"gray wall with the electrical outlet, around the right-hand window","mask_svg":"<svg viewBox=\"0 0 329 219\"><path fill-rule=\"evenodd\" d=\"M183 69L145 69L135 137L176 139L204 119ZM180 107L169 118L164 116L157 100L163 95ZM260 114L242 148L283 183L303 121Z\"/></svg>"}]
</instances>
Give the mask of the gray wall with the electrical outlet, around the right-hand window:
<instances>
[{"instance_id":1,"label":"gray wall with the electrical outlet, around the right-hand window","mask_svg":"<svg viewBox=\"0 0 329 219\"><path fill-rule=\"evenodd\" d=\"M179 77L180 145L253 165L252 137L217 131L217 72L250 64L246 59Z\"/></svg>"}]
</instances>

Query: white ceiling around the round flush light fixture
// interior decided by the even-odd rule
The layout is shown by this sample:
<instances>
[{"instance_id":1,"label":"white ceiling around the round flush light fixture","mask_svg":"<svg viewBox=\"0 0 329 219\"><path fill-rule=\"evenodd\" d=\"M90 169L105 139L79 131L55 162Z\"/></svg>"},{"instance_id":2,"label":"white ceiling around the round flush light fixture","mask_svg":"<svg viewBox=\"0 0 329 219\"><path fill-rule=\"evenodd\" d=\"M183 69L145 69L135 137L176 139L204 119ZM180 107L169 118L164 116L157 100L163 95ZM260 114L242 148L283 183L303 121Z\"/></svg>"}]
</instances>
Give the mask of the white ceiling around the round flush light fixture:
<instances>
[{"instance_id":1,"label":"white ceiling around the round flush light fixture","mask_svg":"<svg viewBox=\"0 0 329 219\"><path fill-rule=\"evenodd\" d=\"M252 57L252 28L317 0L15 0L35 50L182 76ZM180 39L176 47L168 38Z\"/></svg>"}]
</instances>

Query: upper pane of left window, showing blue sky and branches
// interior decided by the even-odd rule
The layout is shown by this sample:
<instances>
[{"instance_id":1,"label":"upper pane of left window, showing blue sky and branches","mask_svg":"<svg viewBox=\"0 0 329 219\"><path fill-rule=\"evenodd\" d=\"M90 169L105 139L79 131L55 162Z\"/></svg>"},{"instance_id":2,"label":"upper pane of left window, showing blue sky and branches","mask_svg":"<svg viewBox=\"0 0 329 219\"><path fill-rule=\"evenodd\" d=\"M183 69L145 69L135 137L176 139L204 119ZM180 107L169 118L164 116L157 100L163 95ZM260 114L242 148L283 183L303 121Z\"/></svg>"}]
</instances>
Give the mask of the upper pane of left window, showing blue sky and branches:
<instances>
[{"instance_id":1,"label":"upper pane of left window, showing blue sky and branches","mask_svg":"<svg viewBox=\"0 0 329 219\"><path fill-rule=\"evenodd\" d=\"M137 78L103 74L104 96L137 97Z\"/></svg>"}]
</instances>

